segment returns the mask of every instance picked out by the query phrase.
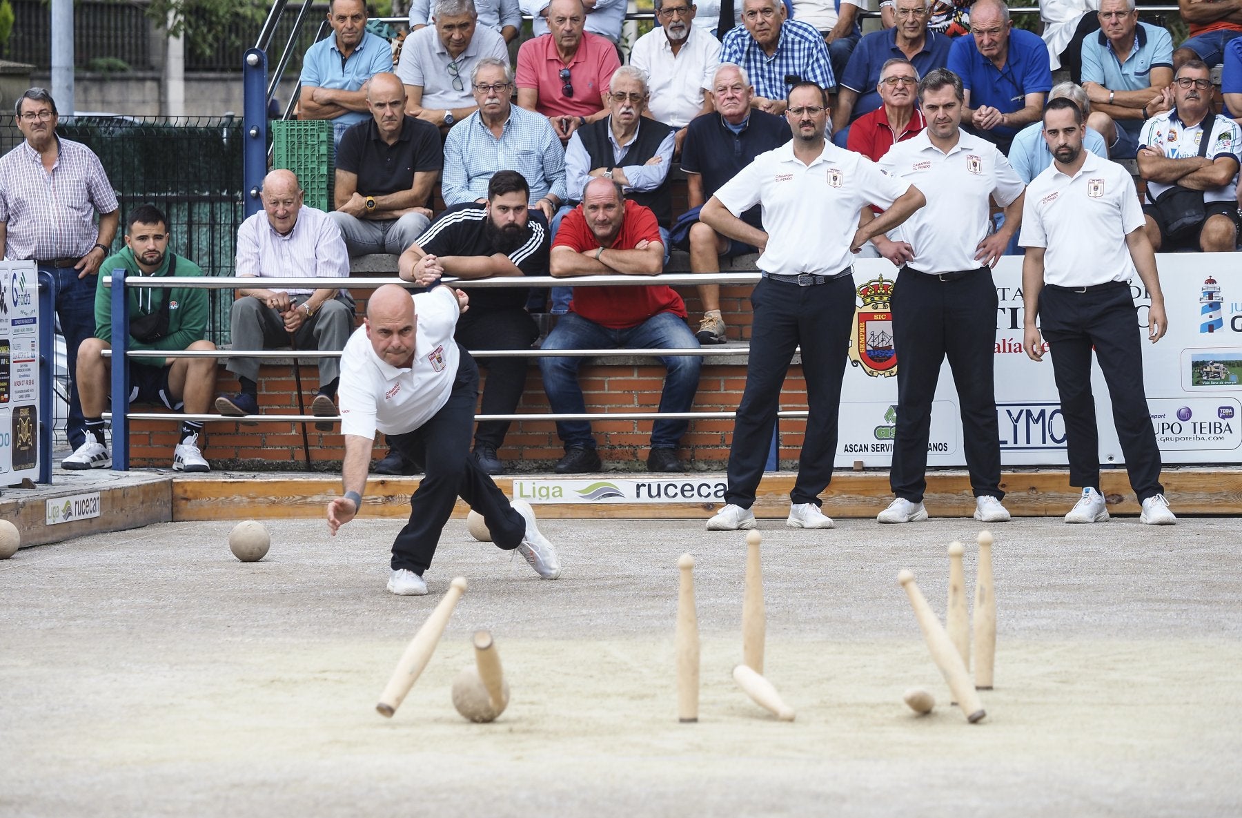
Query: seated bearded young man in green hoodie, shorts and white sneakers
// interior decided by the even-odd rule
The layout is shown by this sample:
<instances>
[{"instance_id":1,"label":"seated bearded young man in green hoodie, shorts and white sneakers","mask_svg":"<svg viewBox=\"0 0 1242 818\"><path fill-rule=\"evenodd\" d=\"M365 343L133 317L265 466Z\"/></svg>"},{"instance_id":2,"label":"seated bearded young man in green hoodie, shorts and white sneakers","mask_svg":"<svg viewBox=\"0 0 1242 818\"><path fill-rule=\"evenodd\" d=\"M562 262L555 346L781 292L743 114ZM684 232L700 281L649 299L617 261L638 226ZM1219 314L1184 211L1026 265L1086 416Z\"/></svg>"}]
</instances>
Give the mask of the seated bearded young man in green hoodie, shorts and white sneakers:
<instances>
[{"instance_id":1,"label":"seated bearded young man in green hoodie, shorts and white sneakers","mask_svg":"<svg viewBox=\"0 0 1242 818\"><path fill-rule=\"evenodd\" d=\"M128 276L201 276L189 259L168 251L168 219L153 205L129 214L125 247L106 259L99 280L117 267ZM202 336L207 328L207 291L191 287L130 287L129 349L215 349ZM112 454L103 443L103 411L108 407L111 364L101 353L112 348L112 288L94 293L94 337L78 347L77 380L86 418L86 443L66 457L65 469L107 469ZM207 413L216 392L215 358L134 358L129 368L129 403L163 403L191 415ZM181 421L180 443L173 455L174 471L211 471L199 450L202 423Z\"/></svg>"}]
</instances>

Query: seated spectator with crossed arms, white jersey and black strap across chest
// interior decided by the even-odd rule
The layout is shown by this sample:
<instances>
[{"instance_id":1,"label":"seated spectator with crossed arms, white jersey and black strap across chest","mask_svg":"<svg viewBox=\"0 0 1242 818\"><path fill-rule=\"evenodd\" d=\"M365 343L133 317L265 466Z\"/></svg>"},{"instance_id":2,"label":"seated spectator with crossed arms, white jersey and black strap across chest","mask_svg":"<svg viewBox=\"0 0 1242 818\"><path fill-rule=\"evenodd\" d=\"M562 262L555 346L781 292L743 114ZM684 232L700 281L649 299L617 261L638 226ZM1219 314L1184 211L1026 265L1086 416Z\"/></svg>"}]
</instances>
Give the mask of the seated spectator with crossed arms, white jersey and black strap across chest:
<instances>
[{"instance_id":1,"label":"seated spectator with crossed arms, white jersey and black strap across chest","mask_svg":"<svg viewBox=\"0 0 1242 818\"><path fill-rule=\"evenodd\" d=\"M1172 111L1148 119L1139 134L1139 173L1148 183L1143 214L1158 252L1237 247L1242 128L1212 113L1210 76L1199 60L1177 68Z\"/></svg>"}]
</instances>

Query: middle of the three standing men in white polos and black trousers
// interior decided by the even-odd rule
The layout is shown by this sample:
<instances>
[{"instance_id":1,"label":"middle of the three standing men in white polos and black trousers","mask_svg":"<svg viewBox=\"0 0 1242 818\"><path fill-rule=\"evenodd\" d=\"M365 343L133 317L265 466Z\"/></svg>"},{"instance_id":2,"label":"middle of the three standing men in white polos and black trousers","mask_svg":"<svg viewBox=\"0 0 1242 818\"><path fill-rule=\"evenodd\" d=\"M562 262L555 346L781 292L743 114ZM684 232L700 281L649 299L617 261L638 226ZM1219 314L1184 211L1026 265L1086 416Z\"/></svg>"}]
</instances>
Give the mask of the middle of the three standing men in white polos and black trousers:
<instances>
[{"instance_id":1,"label":"middle of the three standing men in white polos and black trousers","mask_svg":"<svg viewBox=\"0 0 1242 818\"><path fill-rule=\"evenodd\" d=\"M933 68L919 82L927 128L894 144L879 167L927 191L928 206L897 229L899 241L874 240L899 266L893 290L897 352L897 439L889 484L897 495L879 522L927 520L928 436L940 365L949 358L961 410L961 439L975 495L975 520L1006 522L1001 505L1001 443L992 357L996 346L995 265L1017 230L1026 185L1005 154L961 129L961 78ZM990 205L1005 208L996 232ZM954 227L945 229L951 213ZM869 214L864 214L867 219Z\"/></svg>"}]
</instances>

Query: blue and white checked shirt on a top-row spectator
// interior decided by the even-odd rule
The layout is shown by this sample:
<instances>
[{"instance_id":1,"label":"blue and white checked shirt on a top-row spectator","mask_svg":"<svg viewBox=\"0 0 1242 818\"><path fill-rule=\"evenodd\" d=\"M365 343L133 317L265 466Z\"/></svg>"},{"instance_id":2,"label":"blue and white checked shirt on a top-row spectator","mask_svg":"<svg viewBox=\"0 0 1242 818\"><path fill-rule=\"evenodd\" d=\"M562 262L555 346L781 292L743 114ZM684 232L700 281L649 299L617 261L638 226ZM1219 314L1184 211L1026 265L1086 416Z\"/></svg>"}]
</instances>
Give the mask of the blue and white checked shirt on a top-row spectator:
<instances>
[{"instance_id":1,"label":"blue and white checked shirt on a top-row spectator","mask_svg":"<svg viewBox=\"0 0 1242 818\"><path fill-rule=\"evenodd\" d=\"M797 20L786 20L780 27L780 42L770 57L745 26L738 26L724 35L720 62L741 66L755 86L755 96L768 99L784 99L789 96L794 83L786 82L786 77L796 76L827 91L837 85L823 35L810 24Z\"/></svg>"}]
</instances>

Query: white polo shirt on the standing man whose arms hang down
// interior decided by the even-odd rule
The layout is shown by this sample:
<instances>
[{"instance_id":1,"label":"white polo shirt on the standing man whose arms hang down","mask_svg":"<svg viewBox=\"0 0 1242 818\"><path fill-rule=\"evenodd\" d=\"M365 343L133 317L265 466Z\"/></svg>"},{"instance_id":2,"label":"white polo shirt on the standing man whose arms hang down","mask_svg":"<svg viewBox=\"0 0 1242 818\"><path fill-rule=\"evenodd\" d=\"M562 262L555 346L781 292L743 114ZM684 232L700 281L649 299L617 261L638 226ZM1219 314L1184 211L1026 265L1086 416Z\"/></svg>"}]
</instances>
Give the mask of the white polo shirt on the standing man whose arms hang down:
<instances>
[{"instance_id":1,"label":"white polo shirt on the standing man whose arms hang down","mask_svg":"<svg viewBox=\"0 0 1242 818\"><path fill-rule=\"evenodd\" d=\"M1143 226L1134 179L1122 165L1083 150L1073 177L1056 163L1037 175L1022 203L1023 247L1045 247L1043 282L1089 287L1129 281L1134 261L1125 236Z\"/></svg>"}]
</instances>

